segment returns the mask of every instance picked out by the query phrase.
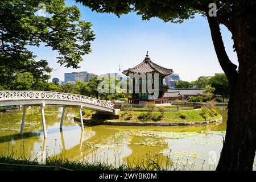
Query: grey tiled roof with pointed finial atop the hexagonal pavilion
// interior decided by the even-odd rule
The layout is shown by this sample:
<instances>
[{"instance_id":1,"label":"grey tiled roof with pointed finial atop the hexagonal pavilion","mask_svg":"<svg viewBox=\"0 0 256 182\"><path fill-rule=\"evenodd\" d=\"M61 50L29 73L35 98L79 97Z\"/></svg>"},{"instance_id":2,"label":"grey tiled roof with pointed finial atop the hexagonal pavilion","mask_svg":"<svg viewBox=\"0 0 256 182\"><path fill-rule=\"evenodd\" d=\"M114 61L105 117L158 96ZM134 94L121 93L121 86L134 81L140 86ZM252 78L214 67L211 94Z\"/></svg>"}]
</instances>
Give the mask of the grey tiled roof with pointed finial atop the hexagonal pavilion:
<instances>
[{"instance_id":1,"label":"grey tiled roof with pointed finial atop the hexagonal pavilion","mask_svg":"<svg viewBox=\"0 0 256 182\"><path fill-rule=\"evenodd\" d=\"M137 66L133 67L133 68L129 68L123 71L123 74L125 74L126 76L129 75L129 73L160 73L162 75L171 75L172 73L174 73L174 71L172 71L172 69L168 69L168 68L164 68L161 67L158 64L153 63L150 60L150 57L148 57L148 52L147 55L144 59L144 61L142 61L142 63L138 64Z\"/></svg>"}]
</instances>

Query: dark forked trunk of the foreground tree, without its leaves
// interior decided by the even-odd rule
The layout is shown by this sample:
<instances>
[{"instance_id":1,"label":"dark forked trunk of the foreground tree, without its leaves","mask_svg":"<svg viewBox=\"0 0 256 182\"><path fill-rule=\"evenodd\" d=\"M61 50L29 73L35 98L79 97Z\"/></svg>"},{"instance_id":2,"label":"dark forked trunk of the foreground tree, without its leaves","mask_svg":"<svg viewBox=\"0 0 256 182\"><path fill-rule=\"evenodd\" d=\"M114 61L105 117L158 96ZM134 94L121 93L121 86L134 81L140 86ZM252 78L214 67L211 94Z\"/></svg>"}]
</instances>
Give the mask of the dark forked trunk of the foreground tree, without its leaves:
<instances>
[{"instance_id":1,"label":"dark forked trunk of the foreground tree, without its leaves","mask_svg":"<svg viewBox=\"0 0 256 182\"><path fill-rule=\"evenodd\" d=\"M216 170L252 170L256 150L256 48L251 43L246 19L233 17L233 35L239 68L226 54L216 18L208 23L218 61L230 85L224 146Z\"/></svg>"}]
</instances>

